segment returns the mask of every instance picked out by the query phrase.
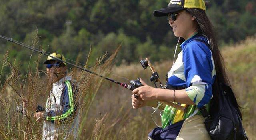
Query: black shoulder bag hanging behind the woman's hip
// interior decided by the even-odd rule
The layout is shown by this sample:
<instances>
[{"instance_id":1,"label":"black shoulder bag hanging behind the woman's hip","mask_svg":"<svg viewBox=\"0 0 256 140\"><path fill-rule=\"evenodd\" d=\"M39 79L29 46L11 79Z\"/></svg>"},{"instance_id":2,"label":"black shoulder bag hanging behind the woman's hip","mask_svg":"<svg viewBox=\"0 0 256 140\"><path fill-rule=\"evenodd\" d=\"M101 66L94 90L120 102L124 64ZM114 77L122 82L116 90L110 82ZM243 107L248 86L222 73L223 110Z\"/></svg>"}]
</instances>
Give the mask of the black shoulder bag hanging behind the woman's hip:
<instances>
[{"instance_id":1,"label":"black shoulder bag hanging behind the woman's hip","mask_svg":"<svg viewBox=\"0 0 256 140\"><path fill-rule=\"evenodd\" d=\"M226 84L220 84L220 89L218 108L214 108L214 102L211 104L214 111L210 113L205 106L200 108L206 130L212 140L248 140L232 89Z\"/></svg>"}]
</instances>

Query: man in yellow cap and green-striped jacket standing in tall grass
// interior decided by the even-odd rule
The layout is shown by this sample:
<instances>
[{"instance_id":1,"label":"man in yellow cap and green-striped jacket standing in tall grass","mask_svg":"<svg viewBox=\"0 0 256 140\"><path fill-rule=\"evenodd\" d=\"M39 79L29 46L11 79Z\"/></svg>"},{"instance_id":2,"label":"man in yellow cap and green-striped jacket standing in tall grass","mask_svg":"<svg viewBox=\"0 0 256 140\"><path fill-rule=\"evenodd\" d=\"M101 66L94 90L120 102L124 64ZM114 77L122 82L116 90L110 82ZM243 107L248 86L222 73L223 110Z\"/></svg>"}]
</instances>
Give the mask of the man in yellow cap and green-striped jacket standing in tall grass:
<instances>
[{"instance_id":1,"label":"man in yellow cap and green-striped jacket standing in tall grass","mask_svg":"<svg viewBox=\"0 0 256 140\"><path fill-rule=\"evenodd\" d=\"M66 61L62 54L52 53L50 56ZM79 123L78 87L67 76L66 63L50 56L44 64L50 83L53 83L52 89L45 110L38 106L34 117L37 121L44 119L43 140L76 139Z\"/></svg>"}]
</instances>

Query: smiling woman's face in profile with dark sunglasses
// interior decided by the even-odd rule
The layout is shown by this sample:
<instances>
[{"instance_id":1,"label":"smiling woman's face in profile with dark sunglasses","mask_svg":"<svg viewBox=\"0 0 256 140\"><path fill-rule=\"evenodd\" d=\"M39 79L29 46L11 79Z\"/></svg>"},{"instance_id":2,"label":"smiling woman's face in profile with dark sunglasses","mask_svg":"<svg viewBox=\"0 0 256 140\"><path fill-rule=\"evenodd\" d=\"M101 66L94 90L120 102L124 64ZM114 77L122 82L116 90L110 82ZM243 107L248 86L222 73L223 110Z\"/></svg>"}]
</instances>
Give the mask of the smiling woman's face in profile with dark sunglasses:
<instances>
[{"instance_id":1,"label":"smiling woman's face in profile with dark sunglasses","mask_svg":"<svg viewBox=\"0 0 256 140\"><path fill-rule=\"evenodd\" d=\"M186 10L176 12L176 20L169 19L169 24L172 27L172 31L176 37L182 37L188 39L190 32L197 29L197 23L195 18L191 16Z\"/></svg>"}]
</instances>

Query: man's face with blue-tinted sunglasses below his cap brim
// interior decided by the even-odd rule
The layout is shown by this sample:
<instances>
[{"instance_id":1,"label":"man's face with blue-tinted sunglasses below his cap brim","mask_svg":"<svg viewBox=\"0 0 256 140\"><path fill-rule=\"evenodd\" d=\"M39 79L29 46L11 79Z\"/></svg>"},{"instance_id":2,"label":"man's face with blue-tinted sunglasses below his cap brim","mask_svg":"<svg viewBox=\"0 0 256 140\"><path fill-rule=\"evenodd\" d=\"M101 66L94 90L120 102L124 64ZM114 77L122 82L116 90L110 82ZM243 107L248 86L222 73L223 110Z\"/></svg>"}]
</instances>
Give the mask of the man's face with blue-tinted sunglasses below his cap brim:
<instances>
[{"instance_id":1,"label":"man's face with blue-tinted sunglasses below his cap brim","mask_svg":"<svg viewBox=\"0 0 256 140\"><path fill-rule=\"evenodd\" d=\"M66 75L66 66L58 64L56 61L50 61L46 64L46 72L52 80L60 80Z\"/></svg>"}]
</instances>

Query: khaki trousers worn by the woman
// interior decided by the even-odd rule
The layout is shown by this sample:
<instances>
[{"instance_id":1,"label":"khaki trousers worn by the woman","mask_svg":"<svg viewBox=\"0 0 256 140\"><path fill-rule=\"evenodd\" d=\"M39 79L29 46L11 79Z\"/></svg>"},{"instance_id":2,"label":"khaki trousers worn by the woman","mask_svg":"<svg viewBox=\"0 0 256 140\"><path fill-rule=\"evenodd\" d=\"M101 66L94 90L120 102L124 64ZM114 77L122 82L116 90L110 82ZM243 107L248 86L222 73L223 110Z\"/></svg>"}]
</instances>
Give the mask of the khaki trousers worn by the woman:
<instances>
[{"instance_id":1,"label":"khaki trousers worn by the woman","mask_svg":"<svg viewBox=\"0 0 256 140\"><path fill-rule=\"evenodd\" d=\"M176 140L211 140L201 115L187 118L180 129Z\"/></svg>"}]
</instances>

